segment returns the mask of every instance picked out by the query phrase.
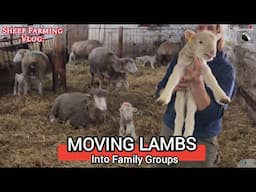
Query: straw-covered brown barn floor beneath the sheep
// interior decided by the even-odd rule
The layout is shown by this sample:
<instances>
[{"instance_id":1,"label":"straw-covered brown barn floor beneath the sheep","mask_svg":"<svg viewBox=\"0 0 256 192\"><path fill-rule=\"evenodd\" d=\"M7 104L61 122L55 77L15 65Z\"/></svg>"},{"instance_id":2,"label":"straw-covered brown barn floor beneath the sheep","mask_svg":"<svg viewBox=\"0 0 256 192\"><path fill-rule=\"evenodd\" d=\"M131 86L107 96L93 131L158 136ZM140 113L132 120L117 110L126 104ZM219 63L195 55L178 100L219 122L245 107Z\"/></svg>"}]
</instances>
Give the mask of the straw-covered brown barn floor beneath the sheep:
<instances>
[{"instance_id":1,"label":"straw-covered brown barn floor beneath the sheep","mask_svg":"<svg viewBox=\"0 0 256 192\"><path fill-rule=\"evenodd\" d=\"M58 161L57 146L66 143L67 136L118 135L119 106L131 102L139 109L135 115L137 135L148 140L158 135L165 107L156 105L153 97L157 82L165 68L157 70L139 67L139 72L129 76L130 91L113 92L108 96L108 120L104 125L88 129L73 129L68 124L47 119L50 103L57 93L50 91L47 81L45 96L36 92L31 96L12 95L12 88L0 93L0 167L104 167L85 161ZM68 92L89 90L88 68L82 65L67 66ZM256 157L256 127L234 99L225 113L223 132L219 137L220 167L236 167L241 159ZM109 165L108 167L113 167ZM129 167L129 166L124 166Z\"/></svg>"}]
</instances>

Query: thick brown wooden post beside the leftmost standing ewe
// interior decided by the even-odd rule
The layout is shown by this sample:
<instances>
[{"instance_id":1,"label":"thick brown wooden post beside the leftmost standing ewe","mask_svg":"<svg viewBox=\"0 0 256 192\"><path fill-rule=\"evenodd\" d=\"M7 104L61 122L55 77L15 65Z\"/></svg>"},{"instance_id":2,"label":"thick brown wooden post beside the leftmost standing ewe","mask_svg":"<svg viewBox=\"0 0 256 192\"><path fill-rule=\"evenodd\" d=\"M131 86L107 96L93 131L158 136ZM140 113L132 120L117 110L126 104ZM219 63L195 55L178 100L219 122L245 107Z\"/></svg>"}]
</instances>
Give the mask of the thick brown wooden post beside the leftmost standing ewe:
<instances>
[{"instance_id":1,"label":"thick brown wooden post beside the leftmost standing ewe","mask_svg":"<svg viewBox=\"0 0 256 192\"><path fill-rule=\"evenodd\" d=\"M53 91L56 91L59 87L62 87L64 91L67 90L66 85L66 65L65 65L65 47L64 47L64 35L55 35L53 38Z\"/></svg>"}]
</instances>

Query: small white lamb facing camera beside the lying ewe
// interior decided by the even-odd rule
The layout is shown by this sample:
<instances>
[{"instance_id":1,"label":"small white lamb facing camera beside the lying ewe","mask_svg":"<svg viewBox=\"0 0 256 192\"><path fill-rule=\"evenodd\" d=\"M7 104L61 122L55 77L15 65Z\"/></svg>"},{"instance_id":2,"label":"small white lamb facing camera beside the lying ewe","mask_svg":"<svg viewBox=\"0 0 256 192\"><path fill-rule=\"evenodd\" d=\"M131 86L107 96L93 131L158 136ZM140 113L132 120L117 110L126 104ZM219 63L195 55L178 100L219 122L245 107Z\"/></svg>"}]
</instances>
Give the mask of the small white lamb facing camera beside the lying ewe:
<instances>
[{"instance_id":1,"label":"small white lamb facing camera beside the lying ewe","mask_svg":"<svg viewBox=\"0 0 256 192\"><path fill-rule=\"evenodd\" d=\"M137 112L138 109L133 107L129 102L123 102L119 112L120 112L120 129L119 136L131 135L134 140L137 136L135 133L135 126L133 122L133 113Z\"/></svg>"}]
</instances>

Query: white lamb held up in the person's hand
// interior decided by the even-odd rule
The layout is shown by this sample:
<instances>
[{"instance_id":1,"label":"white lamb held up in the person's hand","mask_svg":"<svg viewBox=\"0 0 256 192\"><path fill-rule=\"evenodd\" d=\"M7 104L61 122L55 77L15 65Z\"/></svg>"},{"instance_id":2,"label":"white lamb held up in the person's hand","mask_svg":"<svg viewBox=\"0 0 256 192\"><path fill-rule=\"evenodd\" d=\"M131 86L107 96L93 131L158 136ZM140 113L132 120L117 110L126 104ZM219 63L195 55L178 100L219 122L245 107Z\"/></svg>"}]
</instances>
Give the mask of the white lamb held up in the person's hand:
<instances>
[{"instance_id":1,"label":"white lamb held up in the person's hand","mask_svg":"<svg viewBox=\"0 0 256 192\"><path fill-rule=\"evenodd\" d=\"M171 100L173 89L179 83L184 75L184 69L187 65L193 62L193 57L197 56L202 63L201 75L206 85L213 91L216 102L223 105L231 100L219 86L216 78L211 72L207 61L211 61L216 56L217 41L221 37L220 34L215 35L210 31L202 31L195 33L191 30L185 31L185 37L188 39L186 45L179 52L179 57L176 66L173 69L171 76L168 79L166 87L161 92L160 97L156 100L161 104L168 104ZM191 94L191 91L177 91L175 100L175 127L174 136L182 136L182 128L185 118L185 131L183 136L192 136L194 132L195 119L194 114L197 110L196 102Z\"/></svg>"}]
</instances>

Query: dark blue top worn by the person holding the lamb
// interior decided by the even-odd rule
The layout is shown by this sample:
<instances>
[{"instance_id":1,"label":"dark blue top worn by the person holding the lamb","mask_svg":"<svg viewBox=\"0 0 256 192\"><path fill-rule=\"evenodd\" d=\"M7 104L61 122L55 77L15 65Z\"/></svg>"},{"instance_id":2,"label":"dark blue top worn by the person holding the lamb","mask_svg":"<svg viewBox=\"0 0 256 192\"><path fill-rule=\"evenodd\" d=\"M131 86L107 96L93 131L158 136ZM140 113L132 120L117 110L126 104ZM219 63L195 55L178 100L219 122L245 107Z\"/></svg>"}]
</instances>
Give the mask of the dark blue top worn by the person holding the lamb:
<instances>
[{"instance_id":1,"label":"dark blue top worn by the person holding the lamb","mask_svg":"<svg viewBox=\"0 0 256 192\"><path fill-rule=\"evenodd\" d=\"M165 87L174 66L177 64L177 59L178 56L171 61L164 78L158 83L156 91L157 97L159 97L160 90ZM235 70L233 66L228 63L225 54L223 52L217 52L216 57L212 61L208 62L208 65L227 96L233 98L236 89ZM217 136L221 131L224 109L227 108L227 105L223 107L216 103L212 91L207 86L206 90L211 98L211 103L206 109L197 111L195 114L194 136L197 138L210 138ZM174 120L176 116L174 109L175 97L176 94L172 96L163 119L164 123L172 129L174 129Z\"/></svg>"}]
</instances>

